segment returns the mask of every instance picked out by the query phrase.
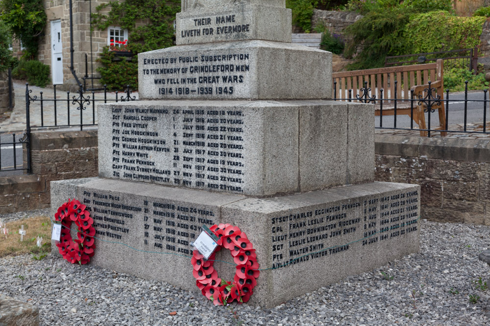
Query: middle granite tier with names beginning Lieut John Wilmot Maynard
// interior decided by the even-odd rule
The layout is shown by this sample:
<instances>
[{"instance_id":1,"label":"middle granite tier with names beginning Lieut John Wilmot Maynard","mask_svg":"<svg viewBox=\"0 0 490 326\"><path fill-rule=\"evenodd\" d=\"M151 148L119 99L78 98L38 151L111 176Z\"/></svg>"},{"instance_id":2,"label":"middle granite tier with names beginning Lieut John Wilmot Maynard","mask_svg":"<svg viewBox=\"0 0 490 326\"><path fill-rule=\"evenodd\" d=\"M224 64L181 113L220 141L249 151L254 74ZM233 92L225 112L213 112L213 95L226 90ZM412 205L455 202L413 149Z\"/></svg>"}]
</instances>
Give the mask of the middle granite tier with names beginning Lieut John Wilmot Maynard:
<instances>
[{"instance_id":1,"label":"middle granite tier with names beginning Lieut John Wilmot Maynard","mask_svg":"<svg viewBox=\"0 0 490 326\"><path fill-rule=\"evenodd\" d=\"M99 176L248 196L370 182L372 110L322 100L99 105Z\"/></svg>"}]
</instances>

